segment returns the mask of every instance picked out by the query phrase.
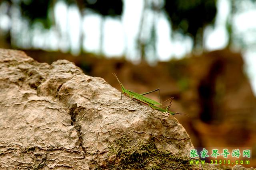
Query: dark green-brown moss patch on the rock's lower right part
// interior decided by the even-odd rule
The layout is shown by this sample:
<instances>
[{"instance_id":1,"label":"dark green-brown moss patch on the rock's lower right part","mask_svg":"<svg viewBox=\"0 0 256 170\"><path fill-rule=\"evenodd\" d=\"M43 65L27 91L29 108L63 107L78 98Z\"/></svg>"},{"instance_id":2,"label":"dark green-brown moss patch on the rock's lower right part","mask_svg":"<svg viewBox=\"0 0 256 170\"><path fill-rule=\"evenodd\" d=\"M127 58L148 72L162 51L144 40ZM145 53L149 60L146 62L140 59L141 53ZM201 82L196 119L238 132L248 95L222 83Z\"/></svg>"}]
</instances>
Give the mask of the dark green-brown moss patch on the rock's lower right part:
<instances>
[{"instance_id":1,"label":"dark green-brown moss patch on the rock's lower right part","mask_svg":"<svg viewBox=\"0 0 256 170\"><path fill-rule=\"evenodd\" d=\"M129 145L130 144L130 145ZM96 169L179 169L189 170L189 158L172 154L168 150L158 150L154 141L141 141L131 146L131 140L121 137L109 147L109 158Z\"/></svg>"}]
</instances>

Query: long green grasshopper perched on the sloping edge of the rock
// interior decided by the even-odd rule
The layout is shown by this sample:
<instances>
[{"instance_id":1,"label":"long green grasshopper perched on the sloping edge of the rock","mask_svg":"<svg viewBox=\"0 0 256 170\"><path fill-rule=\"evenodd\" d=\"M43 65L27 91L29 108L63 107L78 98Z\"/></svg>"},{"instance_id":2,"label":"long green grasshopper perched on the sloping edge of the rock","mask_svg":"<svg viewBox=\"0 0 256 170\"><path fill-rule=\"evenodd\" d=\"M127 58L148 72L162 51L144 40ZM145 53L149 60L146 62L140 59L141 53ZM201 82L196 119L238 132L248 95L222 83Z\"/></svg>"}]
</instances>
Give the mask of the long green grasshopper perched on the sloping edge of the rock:
<instances>
[{"instance_id":1,"label":"long green grasshopper perched on the sloping edge of the rock","mask_svg":"<svg viewBox=\"0 0 256 170\"><path fill-rule=\"evenodd\" d=\"M168 105L168 107L166 109L163 109L161 107L157 107L156 105L162 105L150 98L146 98L145 94L149 94L149 93L152 93L152 92L155 92L155 91L159 91L159 94L160 94L160 90L159 88L156 89L156 90L152 90L150 92L146 92L146 93L143 93L143 94L138 94L138 93L135 93L135 92L132 92L131 90L127 90L124 88L123 84L119 81L119 79L117 78L116 74L113 73L113 75L115 76L116 80L119 82L120 86L121 86L121 89L122 89L122 93L121 93L121 100L122 100L122 94L128 96L130 99L131 99L131 104L132 104L132 98L135 99L135 100L138 100L139 102L142 102L144 104L147 104L148 106L152 107L153 109L156 109L156 110L159 110L161 112L164 112L164 113L170 113L171 115L175 115L175 114L181 114L181 113L174 113L174 112L171 112L169 111L169 108L171 106L171 103L172 103L172 100L170 102L170 104ZM170 98L170 99L173 99L174 97ZM130 104L130 105L131 105Z\"/></svg>"}]
</instances>

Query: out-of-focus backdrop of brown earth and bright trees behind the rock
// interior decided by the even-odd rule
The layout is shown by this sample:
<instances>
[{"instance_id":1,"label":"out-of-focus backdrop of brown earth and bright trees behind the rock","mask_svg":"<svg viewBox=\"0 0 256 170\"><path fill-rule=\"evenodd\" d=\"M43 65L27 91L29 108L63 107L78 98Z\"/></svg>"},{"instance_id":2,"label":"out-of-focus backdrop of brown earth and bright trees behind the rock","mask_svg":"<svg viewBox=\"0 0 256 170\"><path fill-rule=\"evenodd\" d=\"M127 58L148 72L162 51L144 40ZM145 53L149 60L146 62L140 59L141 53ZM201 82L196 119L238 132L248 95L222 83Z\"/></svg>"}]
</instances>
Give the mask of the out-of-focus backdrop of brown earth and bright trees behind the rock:
<instances>
[{"instance_id":1,"label":"out-of-focus backdrop of brown earth and bright trees behind the rock","mask_svg":"<svg viewBox=\"0 0 256 170\"><path fill-rule=\"evenodd\" d=\"M0 48L160 88L195 147L248 148L256 167L256 0L0 0Z\"/></svg>"}]
</instances>

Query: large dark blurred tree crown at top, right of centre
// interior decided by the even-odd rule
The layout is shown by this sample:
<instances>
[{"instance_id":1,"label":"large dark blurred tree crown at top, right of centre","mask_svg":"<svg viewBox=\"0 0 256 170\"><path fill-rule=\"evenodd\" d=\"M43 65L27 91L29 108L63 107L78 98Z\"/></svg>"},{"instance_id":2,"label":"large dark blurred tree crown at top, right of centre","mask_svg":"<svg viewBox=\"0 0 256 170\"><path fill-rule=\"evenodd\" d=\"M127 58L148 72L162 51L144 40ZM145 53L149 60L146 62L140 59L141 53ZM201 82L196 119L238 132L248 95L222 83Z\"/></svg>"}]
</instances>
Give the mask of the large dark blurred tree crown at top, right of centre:
<instances>
[{"instance_id":1,"label":"large dark blurred tree crown at top, right of centre","mask_svg":"<svg viewBox=\"0 0 256 170\"><path fill-rule=\"evenodd\" d=\"M172 29L192 36L194 47L202 48L203 30L214 23L216 0L166 0L164 9Z\"/></svg>"}]
</instances>

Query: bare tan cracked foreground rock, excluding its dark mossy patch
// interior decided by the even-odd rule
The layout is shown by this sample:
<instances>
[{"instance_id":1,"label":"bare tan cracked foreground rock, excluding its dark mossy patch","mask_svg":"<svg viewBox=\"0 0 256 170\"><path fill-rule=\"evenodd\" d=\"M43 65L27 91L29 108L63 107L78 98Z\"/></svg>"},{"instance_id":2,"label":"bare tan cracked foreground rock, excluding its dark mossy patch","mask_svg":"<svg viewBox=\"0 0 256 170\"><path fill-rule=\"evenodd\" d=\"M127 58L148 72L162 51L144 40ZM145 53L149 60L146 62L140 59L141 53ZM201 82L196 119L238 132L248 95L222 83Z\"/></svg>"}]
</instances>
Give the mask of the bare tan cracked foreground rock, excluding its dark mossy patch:
<instances>
[{"instance_id":1,"label":"bare tan cracked foreground rock, excluding its dark mossy patch","mask_svg":"<svg viewBox=\"0 0 256 170\"><path fill-rule=\"evenodd\" d=\"M130 106L73 63L48 65L0 49L1 169L108 168L122 160L118 147L146 145L181 157L194 148L175 117L136 101Z\"/></svg>"}]
</instances>

